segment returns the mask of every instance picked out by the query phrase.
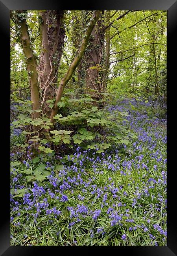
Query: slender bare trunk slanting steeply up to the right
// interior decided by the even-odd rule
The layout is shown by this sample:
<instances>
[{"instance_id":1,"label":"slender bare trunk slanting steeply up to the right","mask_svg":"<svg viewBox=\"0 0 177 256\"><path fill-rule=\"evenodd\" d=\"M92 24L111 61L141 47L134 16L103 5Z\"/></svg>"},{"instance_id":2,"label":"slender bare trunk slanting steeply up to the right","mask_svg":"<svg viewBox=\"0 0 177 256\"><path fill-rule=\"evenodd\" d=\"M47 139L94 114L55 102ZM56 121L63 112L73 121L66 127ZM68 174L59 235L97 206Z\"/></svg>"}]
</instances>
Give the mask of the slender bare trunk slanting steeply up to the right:
<instances>
[{"instance_id":1,"label":"slender bare trunk slanting steeply up to the right","mask_svg":"<svg viewBox=\"0 0 177 256\"><path fill-rule=\"evenodd\" d=\"M65 89L66 84L70 80L72 74L76 70L76 67L78 66L79 62L81 61L81 58L82 58L82 56L85 52L85 49L87 47L87 44L88 44L90 34L91 34L95 24L96 24L96 21L99 19L99 17L100 17L100 10L96 10L94 17L90 20L89 26L88 26L88 28L85 32L85 36L84 36L83 41L81 43L81 48L79 50L79 53L77 54L76 58L74 59L74 61L70 65L70 67L69 67L68 71L66 72L64 78L60 82L60 85L59 85L59 88L58 88L58 91L57 91L57 96L55 98L54 106L52 108L52 113L50 115L50 120L51 120L52 123L55 122L55 119L53 119L53 117L58 112L57 103L61 100L61 97L63 95L63 90Z\"/></svg>"}]
</instances>

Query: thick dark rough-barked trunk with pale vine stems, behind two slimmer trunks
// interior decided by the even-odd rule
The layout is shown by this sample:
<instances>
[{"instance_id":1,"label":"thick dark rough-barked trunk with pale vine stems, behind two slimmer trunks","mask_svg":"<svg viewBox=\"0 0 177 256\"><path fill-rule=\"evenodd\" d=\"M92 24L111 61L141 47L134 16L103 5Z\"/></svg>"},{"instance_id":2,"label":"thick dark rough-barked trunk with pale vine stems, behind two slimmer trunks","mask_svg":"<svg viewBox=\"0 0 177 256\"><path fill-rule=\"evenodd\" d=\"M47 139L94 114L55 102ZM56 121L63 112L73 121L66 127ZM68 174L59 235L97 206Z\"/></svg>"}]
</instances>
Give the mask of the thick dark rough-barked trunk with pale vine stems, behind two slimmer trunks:
<instances>
[{"instance_id":1,"label":"thick dark rough-barked trunk with pale vine stems, behind two slimmer trunks","mask_svg":"<svg viewBox=\"0 0 177 256\"><path fill-rule=\"evenodd\" d=\"M42 111L50 117L46 103L56 95L56 82L65 39L63 10L41 12L43 50L40 56L39 81L42 90Z\"/></svg>"}]
</instances>

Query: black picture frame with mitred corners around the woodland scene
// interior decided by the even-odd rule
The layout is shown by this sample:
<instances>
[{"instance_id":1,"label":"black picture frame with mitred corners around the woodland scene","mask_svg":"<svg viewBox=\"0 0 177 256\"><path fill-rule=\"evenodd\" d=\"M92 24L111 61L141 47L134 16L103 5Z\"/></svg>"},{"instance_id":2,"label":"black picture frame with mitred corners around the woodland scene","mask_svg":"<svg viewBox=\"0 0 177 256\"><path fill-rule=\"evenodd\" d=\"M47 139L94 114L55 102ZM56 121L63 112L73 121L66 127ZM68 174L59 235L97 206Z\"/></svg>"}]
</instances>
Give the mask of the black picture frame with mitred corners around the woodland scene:
<instances>
[{"instance_id":1,"label":"black picture frame with mitred corners around the woodland scene","mask_svg":"<svg viewBox=\"0 0 177 256\"><path fill-rule=\"evenodd\" d=\"M15 9L139 9L139 10L167 10L168 13L168 239L167 246L164 247L111 247L111 251L116 253L126 253L136 256L175 256L177 255L177 214L175 212L175 195L176 189L176 151L172 148L175 144L176 138L176 126L175 124L175 93L176 85L176 70L177 70L177 56L176 48L177 43L175 40L175 28L177 28L177 1L175 0L89 0L88 2L76 2L66 3L66 1L55 0L0 0L0 30L1 30L1 53L4 53L4 57L1 56L1 78L4 78L4 82L1 80L1 99L5 99L5 103L1 104L1 147L3 149L1 156L1 164L5 163L5 167L1 168L1 187L4 184L4 188L1 190L1 221L0 221L0 255L3 256L25 256L25 255L37 255L39 253L51 253L51 250L58 252L62 251L67 255L68 253L80 253L83 251L92 253L104 250L104 247L10 247L9 245L9 10ZM2 100L1 100L2 103ZM4 110L6 109L6 110ZM8 113L7 113L8 112ZM4 151L5 145L7 150Z\"/></svg>"}]
</instances>

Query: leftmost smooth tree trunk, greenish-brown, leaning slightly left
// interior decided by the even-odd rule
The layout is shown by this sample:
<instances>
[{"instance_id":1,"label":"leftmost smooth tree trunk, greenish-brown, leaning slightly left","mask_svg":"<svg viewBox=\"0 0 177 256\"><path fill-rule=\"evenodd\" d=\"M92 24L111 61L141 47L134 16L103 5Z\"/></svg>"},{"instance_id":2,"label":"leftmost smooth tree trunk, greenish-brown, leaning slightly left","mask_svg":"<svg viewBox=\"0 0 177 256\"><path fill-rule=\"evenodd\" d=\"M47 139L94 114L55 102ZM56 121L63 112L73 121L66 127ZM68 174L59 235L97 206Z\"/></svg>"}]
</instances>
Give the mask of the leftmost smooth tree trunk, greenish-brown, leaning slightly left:
<instances>
[{"instance_id":1,"label":"leftmost smooth tree trunk, greenish-brown, leaning slightly left","mask_svg":"<svg viewBox=\"0 0 177 256\"><path fill-rule=\"evenodd\" d=\"M19 28L19 36L22 44L23 52L26 59L26 67L28 70L28 76L30 80L30 89L31 89L31 101L32 101L32 110L34 110L32 116L33 119L39 118L40 113L35 112L35 110L40 109L40 96L39 96L39 87L37 80L37 71L36 71L36 62L33 55L33 50L31 49L30 37L28 34L28 26L26 23L26 18L24 16L26 11L18 10L16 12L17 24ZM33 126L35 130L36 126Z\"/></svg>"}]
</instances>

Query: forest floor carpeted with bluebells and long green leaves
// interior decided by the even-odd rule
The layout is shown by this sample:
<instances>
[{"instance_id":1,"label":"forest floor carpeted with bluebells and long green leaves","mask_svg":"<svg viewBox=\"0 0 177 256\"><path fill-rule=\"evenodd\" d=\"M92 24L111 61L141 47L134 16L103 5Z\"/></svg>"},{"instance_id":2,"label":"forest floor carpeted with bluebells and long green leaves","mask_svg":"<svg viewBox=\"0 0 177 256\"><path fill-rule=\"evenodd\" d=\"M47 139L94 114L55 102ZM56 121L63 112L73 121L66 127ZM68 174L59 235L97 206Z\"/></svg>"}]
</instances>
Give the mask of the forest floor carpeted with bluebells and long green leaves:
<instances>
[{"instance_id":1,"label":"forest floor carpeted with bluebells and long green leaves","mask_svg":"<svg viewBox=\"0 0 177 256\"><path fill-rule=\"evenodd\" d=\"M115 109L129 113L130 154L77 147L65 158L20 163L11 153L11 246L166 246L166 119L152 102ZM27 187L26 175L42 165L48 178Z\"/></svg>"}]
</instances>

